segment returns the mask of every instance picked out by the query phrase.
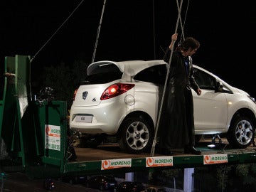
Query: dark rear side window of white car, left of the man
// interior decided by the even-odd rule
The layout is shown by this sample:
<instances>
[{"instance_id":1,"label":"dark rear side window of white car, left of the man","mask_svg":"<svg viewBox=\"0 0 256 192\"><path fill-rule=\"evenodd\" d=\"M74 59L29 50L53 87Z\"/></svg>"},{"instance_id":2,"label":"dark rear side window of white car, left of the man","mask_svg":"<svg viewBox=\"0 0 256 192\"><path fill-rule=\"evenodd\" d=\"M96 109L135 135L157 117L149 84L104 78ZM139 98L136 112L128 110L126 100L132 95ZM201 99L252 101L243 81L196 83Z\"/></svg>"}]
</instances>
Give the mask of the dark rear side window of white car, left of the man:
<instances>
[{"instance_id":1,"label":"dark rear side window of white car, left of the man","mask_svg":"<svg viewBox=\"0 0 256 192\"><path fill-rule=\"evenodd\" d=\"M137 75L134 76L134 80L164 85L166 80L166 67L166 65L154 65L146 68L137 73Z\"/></svg>"}]
</instances>

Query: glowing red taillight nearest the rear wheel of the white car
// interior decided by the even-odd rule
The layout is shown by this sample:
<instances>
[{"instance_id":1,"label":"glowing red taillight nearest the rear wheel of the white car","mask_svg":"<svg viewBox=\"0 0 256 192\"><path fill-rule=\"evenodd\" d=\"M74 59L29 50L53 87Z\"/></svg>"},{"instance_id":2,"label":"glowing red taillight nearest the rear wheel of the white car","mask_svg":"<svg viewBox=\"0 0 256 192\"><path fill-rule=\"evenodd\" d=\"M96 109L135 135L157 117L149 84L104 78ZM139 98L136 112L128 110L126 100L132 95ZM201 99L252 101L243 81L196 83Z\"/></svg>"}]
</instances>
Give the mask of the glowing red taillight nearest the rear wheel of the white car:
<instances>
[{"instance_id":1,"label":"glowing red taillight nearest the rear wheel of the white car","mask_svg":"<svg viewBox=\"0 0 256 192\"><path fill-rule=\"evenodd\" d=\"M112 97L121 95L122 93L132 89L132 87L134 87L134 84L127 84L127 83L120 83L120 82L110 85L110 87L107 87L107 89L102 93L100 100L107 100Z\"/></svg>"}]
</instances>

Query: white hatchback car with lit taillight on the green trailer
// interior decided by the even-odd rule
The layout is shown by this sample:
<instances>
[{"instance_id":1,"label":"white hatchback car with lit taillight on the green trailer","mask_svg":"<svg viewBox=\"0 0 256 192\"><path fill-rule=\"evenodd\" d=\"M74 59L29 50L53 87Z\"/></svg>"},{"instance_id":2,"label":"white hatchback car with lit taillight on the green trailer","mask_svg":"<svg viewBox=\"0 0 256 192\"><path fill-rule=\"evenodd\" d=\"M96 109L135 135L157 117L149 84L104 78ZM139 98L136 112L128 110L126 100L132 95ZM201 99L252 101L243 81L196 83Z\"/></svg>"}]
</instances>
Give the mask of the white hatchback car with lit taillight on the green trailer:
<instances>
[{"instance_id":1,"label":"white hatchback car with lit taillight on the green trailer","mask_svg":"<svg viewBox=\"0 0 256 192\"><path fill-rule=\"evenodd\" d=\"M151 148L168 64L164 60L98 61L75 90L70 129L88 134L92 146L115 136L121 149L139 153ZM255 137L256 104L247 92L197 65L201 87L193 92L196 137L222 134L231 146L245 148Z\"/></svg>"}]
</instances>

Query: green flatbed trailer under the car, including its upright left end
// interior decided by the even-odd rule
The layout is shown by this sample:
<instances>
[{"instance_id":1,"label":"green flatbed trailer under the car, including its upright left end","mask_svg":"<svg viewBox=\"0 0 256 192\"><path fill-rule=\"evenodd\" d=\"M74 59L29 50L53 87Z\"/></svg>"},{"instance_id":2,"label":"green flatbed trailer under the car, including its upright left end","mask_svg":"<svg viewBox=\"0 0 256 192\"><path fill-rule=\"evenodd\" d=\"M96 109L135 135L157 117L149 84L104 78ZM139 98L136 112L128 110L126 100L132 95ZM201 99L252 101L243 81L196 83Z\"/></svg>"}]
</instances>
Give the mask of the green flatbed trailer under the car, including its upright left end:
<instances>
[{"instance_id":1,"label":"green flatbed trailer under the car, including its upright left end","mask_svg":"<svg viewBox=\"0 0 256 192\"><path fill-rule=\"evenodd\" d=\"M0 136L8 156L0 159L1 171L24 171L31 178L60 178L256 162L254 145L230 149L225 139L215 149L208 147L211 139L201 139L197 146L201 155L183 154L178 149L174 156L162 156L157 151L153 156L150 152L127 154L117 144L108 143L95 148L75 147L77 158L70 160L67 103L32 99L30 57L6 57L4 79Z\"/></svg>"}]
</instances>

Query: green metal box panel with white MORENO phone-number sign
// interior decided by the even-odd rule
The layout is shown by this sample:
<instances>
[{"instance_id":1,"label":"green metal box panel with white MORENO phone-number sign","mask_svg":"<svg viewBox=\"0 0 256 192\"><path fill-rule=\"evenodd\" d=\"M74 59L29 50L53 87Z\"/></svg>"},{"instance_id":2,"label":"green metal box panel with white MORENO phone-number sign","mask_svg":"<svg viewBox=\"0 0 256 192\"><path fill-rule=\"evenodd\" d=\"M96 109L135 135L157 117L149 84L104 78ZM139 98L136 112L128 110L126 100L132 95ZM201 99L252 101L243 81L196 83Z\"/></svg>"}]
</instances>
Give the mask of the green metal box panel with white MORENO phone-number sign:
<instances>
[{"instance_id":1,"label":"green metal box panel with white MORENO phone-number sign","mask_svg":"<svg viewBox=\"0 0 256 192\"><path fill-rule=\"evenodd\" d=\"M38 162L27 171L60 176L68 162L67 104L64 101L33 102ZM46 171L43 173L42 171ZM41 177L41 176L39 176Z\"/></svg>"}]
</instances>

